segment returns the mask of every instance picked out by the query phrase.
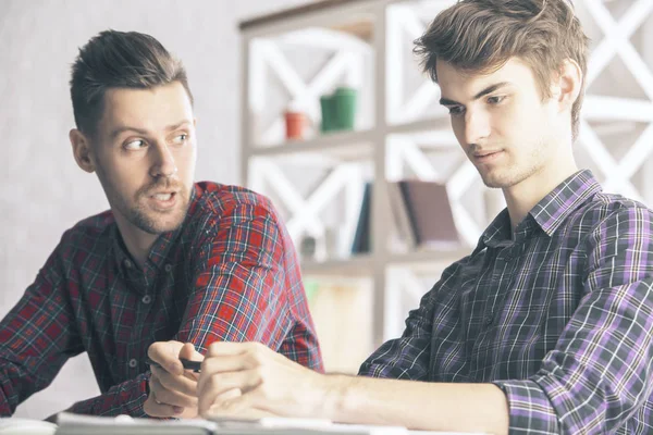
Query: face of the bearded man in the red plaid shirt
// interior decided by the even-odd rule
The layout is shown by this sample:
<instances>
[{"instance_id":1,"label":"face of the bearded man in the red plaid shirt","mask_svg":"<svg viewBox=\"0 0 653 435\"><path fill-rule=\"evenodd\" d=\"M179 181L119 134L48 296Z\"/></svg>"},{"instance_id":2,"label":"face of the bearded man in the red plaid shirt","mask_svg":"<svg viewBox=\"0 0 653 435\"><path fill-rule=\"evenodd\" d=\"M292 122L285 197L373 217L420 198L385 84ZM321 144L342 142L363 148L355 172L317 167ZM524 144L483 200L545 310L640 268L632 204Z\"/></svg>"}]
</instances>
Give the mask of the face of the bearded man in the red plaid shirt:
<instances>
[{"instance_id":1,"label":"face of the bearded man in the red plaid shirt","mask_svg":"<svg viewBox=\"0 0 653 435\"><path fill-rule=\"evenodd\" d=\"M91 152L119 222L149 234L182 224L196 162L195 120L182 84L107 91Z\"/></svg>"}]
</instances>

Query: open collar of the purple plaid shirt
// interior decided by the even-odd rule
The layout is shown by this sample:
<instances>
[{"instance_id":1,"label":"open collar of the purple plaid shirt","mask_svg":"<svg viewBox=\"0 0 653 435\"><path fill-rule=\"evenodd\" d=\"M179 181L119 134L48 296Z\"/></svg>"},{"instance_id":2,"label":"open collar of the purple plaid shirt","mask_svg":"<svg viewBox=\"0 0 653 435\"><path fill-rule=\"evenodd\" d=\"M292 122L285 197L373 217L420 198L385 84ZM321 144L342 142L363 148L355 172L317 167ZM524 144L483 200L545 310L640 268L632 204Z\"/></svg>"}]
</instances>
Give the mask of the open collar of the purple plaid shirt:
<instances>
[{"instance_id":1,"label":"open collar of the purple plaid shirt","mask_svg":"<svg viewBox=\"0 0 653 435\"><path fill-rule=\"evenodd\" d=\"M579 171L542 198L531 209L527 219L519 223L517 232L523 233L521 234L523 236L533 226L539 226L551 237L570 213L601 190L601 185L596 182L590 170ZM475 253L481 251L486 246L498 247L509 244L512 240L510 215L506 208L498 213L483 232L475 249Z\"/></svg>"}]
</instances>

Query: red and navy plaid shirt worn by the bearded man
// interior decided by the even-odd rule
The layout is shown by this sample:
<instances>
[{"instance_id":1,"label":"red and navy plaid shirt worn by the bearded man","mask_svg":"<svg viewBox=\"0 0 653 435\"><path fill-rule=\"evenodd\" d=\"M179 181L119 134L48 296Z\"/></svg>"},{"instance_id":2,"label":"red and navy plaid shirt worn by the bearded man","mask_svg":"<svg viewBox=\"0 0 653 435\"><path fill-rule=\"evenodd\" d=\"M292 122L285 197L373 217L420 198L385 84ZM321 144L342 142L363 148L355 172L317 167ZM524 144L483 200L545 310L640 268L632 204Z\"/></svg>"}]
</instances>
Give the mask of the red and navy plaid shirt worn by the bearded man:
<instances>
[{"instance_id":1,"label":"red and navy plaid shirt worn by the bearded man","mask_svg":"<svg viewBox=\"0 0 653 435\"><path fill-rule=\"evenodd\" d=\"M270 200L196 184L183 225L157 239L143 270L110 211L65 232L0 323L0 415L86 351L102 394L72 411L145 417L147 348L171 339L200 352L261 341L322 370L295 249Z\"/></svg>"}]
</instances>

